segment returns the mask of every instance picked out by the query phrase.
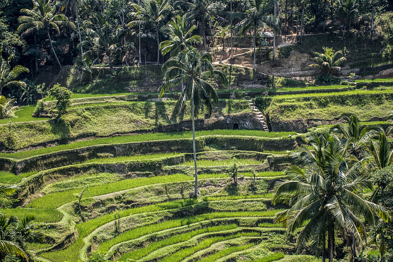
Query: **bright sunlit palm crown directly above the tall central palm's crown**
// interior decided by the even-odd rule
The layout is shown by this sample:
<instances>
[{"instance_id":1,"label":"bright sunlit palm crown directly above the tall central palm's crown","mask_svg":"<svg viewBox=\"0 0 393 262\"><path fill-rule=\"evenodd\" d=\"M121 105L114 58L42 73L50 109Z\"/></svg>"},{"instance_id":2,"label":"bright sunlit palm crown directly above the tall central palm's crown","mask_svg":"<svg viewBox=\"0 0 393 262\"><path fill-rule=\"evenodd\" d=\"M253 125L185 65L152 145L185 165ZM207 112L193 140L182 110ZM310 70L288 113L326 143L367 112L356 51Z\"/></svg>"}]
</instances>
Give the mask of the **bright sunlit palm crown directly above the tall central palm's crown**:
<instances>
[{"instance_id":1,"label":"bright sunlit palm crown directly above the tall central palm's crown","mask_svg":"<svg viewBox=\"0 0 393 262\"><path fill-rule=\"evenodd\" d=\"M171 52L171 56L177 55L180 51L191 47L195 43L202 44L202 38L198 35L192 35L196 29L195 25L190 25L187 16L177 15L172 18L167 25L163 26L161 32L169 36L169 40L160 43L161 53L163 55Z\"/></svg>"}]
</instances>

